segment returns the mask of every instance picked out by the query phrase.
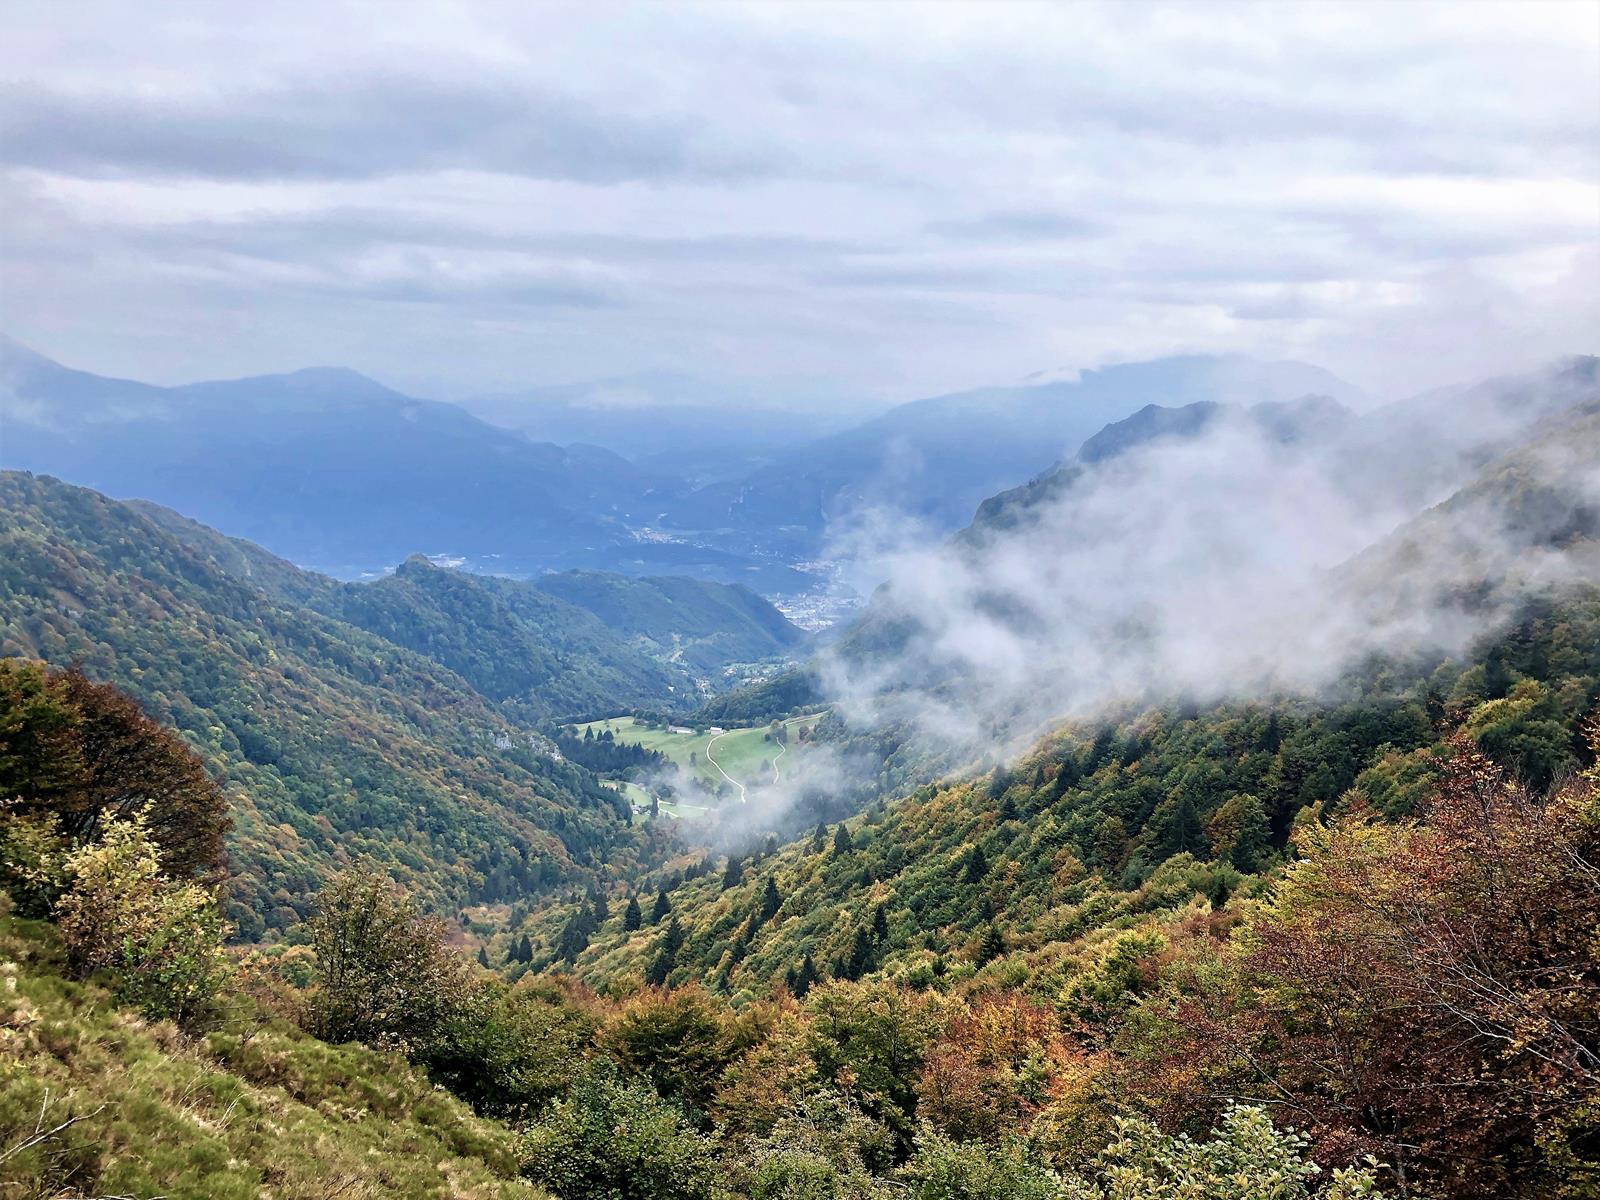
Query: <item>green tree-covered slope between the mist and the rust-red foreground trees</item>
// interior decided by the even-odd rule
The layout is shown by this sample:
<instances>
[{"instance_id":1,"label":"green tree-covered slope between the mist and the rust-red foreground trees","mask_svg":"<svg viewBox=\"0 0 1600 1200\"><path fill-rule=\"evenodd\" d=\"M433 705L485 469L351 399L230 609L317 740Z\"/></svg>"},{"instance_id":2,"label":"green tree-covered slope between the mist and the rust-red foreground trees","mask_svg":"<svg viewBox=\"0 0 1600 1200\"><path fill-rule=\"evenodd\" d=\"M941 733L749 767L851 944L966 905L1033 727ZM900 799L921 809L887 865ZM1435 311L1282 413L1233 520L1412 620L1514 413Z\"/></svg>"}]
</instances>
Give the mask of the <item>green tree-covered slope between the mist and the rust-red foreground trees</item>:
<instances>
[{"instance_id":1,"label":"green tree-covered slope between the mist and the rust-red foreground trees","mask_svg":"<svg viewBox=\"0 0 1600 1200\"><path fill-rule=\"evenodd\" d=\"M667 974L760 995L806 958L821 976L885 970L926 982L1002 950L1043 950L1226 894L1277 861L1302 813L1406 816L1461 723L1549 786L1586 760L1581 722L1597 704L1600 589L1587 586L1530 602L1470 661L1352 675L1342 701L1163 706L1067 726L1016 763L757 854L733 886L722 867L680 874L667 891L682 930ZM554 947L565 920L549 915L534 941ZM614 982L646 973L661 950L661 928L611 920L574 970Z\"/></svg>"}]
</instances>

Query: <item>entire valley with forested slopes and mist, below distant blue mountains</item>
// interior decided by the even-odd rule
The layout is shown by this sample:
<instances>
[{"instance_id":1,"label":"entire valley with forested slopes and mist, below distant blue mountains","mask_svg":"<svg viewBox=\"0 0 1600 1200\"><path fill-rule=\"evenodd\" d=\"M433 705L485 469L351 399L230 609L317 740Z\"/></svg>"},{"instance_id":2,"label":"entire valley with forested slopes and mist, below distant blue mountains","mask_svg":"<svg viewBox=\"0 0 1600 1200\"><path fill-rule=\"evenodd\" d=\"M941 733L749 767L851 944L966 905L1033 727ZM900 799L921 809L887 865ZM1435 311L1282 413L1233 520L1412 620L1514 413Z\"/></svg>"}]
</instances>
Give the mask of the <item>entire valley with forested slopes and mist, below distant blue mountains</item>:
<instances>
[{"instance_id":1,"label":"entire valley with forested slopes and mist, below distant blue mountains","mask_svg":"<svg viewBox=\"0 0 1600 1200\"><path fill-rule=\"evenodd\" d=\"M347 581L0 472L13 1173L1104 1200L1216 1154L1579 1200L1600 362L1451 397L1403 454L1437 395L1150 400L859 611Z\"/></svg>"}]
</instances>

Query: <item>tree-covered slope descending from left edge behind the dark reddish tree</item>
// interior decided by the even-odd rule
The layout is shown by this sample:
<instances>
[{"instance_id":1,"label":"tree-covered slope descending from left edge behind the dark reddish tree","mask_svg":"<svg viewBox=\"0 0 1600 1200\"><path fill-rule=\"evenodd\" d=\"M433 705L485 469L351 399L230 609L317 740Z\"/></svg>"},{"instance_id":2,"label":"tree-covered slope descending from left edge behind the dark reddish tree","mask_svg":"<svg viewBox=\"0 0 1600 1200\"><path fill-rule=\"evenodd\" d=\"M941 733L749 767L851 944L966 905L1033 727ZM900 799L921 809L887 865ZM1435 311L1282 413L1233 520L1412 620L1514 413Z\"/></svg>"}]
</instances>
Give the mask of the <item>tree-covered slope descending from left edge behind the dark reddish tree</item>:
<instances>
[{"instance_id":1,"label":"tree-covered slope descending from left edge behind the dark reddish tree","mask_svg":"<svg viewBox=\"0 0 1600 1200\"><path fill-rule=\"evenodd\" d=\"M456 672L221 570L139 512L0 475L0 651L77 662L224 779L243 938L371 856L434 904L509 899L627 853L614 795Z\"/></svg>"}]
</instances>

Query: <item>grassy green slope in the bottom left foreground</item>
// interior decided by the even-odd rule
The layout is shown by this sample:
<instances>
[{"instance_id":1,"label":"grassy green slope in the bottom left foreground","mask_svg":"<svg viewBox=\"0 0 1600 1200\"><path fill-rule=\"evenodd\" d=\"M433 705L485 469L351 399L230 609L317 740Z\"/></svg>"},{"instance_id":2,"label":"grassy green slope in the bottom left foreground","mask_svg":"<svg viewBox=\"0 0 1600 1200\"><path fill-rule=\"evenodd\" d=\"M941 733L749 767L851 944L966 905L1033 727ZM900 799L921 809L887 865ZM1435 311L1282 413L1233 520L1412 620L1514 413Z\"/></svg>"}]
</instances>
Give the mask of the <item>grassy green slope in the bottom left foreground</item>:
<instances>
[{"instance_id":1,"label":"grassy green slope in the bottom left foreground","mask_svg":"<svg viewBox=\"0 0 1600 1200\"><path fill-rule=\"evenodd\" d=\"M518 1179L510 1130L402 1058L282 1021L187 1038L62 978L54 930L10 918L0 1142L3 1200L544 1197Z\"/></svg>"}]
</instances>

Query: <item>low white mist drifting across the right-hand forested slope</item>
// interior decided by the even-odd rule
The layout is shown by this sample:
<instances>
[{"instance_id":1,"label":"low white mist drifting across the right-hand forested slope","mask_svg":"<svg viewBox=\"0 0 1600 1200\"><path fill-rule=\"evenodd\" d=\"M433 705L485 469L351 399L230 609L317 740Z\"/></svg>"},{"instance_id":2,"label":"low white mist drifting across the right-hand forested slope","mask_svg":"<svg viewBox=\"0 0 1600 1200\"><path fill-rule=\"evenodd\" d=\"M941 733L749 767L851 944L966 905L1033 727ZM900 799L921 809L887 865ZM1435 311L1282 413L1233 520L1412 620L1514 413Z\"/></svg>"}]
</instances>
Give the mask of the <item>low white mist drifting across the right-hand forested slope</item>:
<instances>
[{"instance_id":1,"label":"low white mist drifting across the right-hand forested slope","mask_svg":"<svg viewBox=\"0 0 1600 1200\"><path fill-rule=\"evenodd\" d=\"M1309 437L1285 437L1294 410L1221 410L955 541L880 509L851 544L885 579L875 616L824 658L824 691L858 728L978 757L1122 706L1317 694L1370 654L1459 654L1520 582L1600 570L1592 536L1562 533L1600 502L1597 395L1592 370L1442 394L1413 414L1427 442L1394 410L1306 410ZM1502 470L1525 483L1418 517L1574 400L1579 435L1541 435Z\"/></svg>"}]
</instances>

